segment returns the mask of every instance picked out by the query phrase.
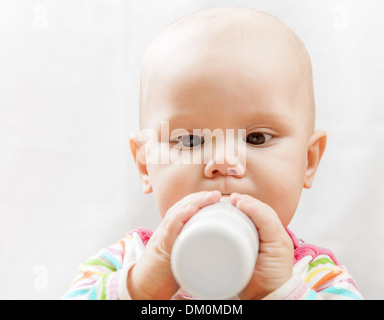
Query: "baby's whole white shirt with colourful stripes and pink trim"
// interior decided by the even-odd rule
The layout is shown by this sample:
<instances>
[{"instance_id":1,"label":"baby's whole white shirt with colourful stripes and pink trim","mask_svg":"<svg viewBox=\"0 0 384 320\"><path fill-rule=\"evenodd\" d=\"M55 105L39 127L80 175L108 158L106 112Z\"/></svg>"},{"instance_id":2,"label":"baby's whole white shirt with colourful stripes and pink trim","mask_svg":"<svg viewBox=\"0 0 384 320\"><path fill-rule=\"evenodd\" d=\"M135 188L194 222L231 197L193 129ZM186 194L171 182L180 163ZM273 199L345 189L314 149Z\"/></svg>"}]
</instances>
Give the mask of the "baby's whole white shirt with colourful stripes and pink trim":
<instances>
[{"instance_id":1,"label":"baby's whole white shirt with colourful stripes and pink trim","mask_svg":"<svg viewBox=\"0 0 384 320\"><path fill-rule=\"evenodd\" d=\"M293 275L264 299L363 299L355 281L338 264L332 252L303 243L287 231L294 244ZM79 266L77 276L62 299L130 299L127 274L140 259L151 235L150 230L138 228L114 245L100 250ZM179 290L173 299L193 298Z\"/></svg>"}]
</instances>

